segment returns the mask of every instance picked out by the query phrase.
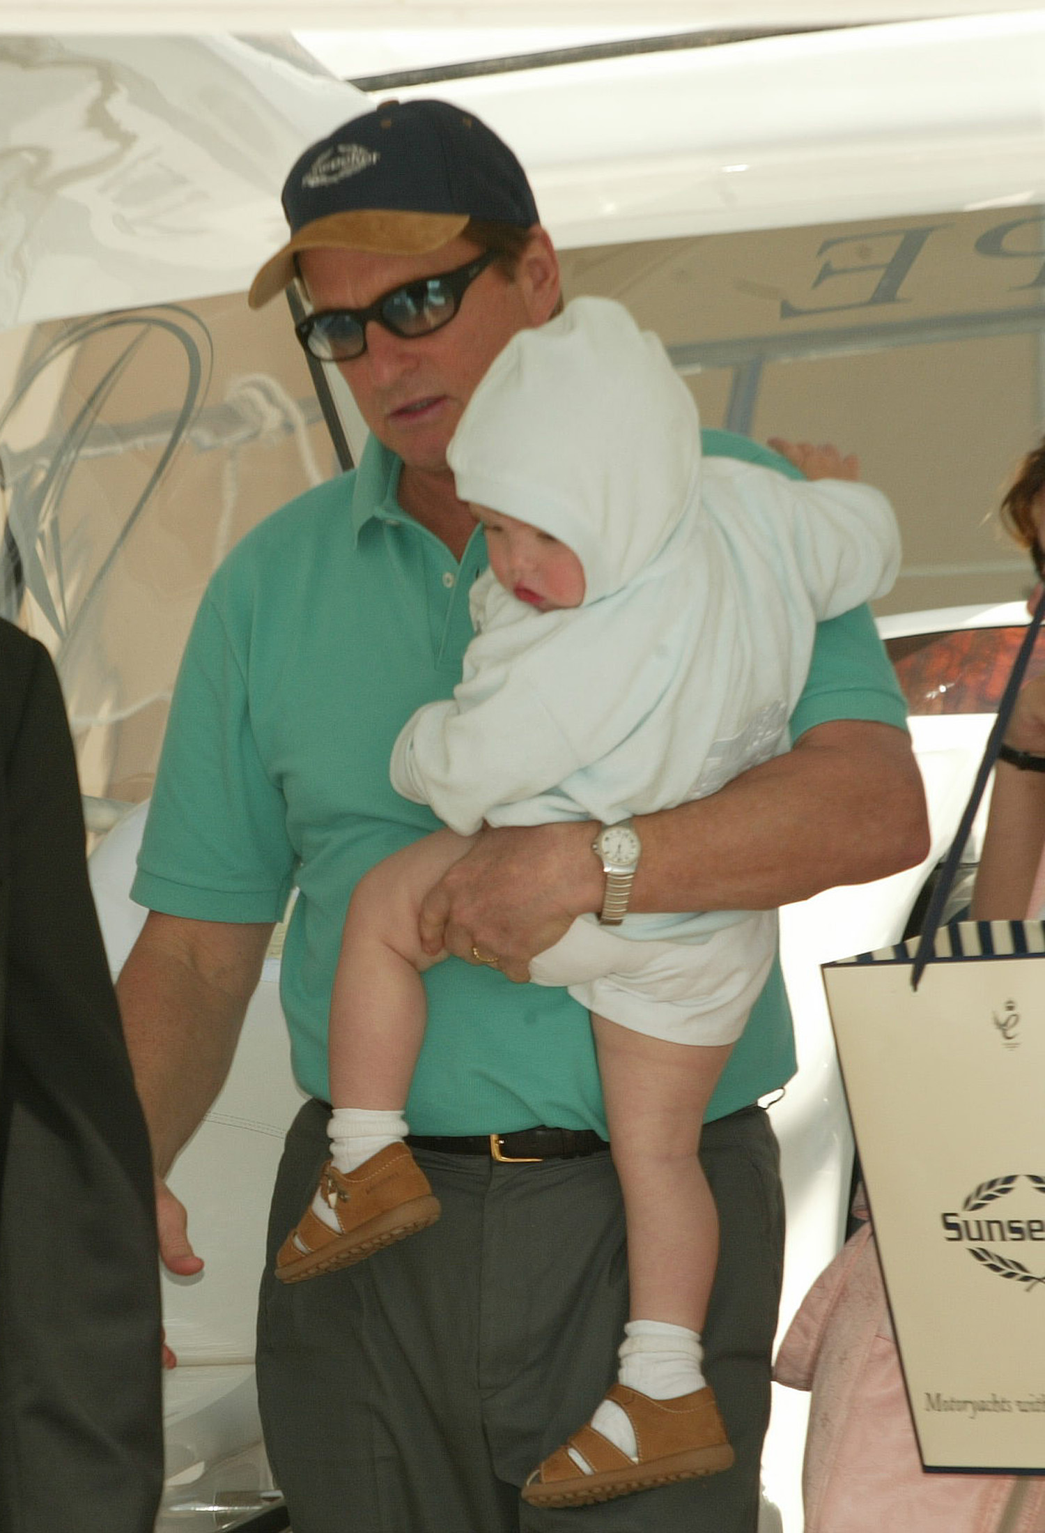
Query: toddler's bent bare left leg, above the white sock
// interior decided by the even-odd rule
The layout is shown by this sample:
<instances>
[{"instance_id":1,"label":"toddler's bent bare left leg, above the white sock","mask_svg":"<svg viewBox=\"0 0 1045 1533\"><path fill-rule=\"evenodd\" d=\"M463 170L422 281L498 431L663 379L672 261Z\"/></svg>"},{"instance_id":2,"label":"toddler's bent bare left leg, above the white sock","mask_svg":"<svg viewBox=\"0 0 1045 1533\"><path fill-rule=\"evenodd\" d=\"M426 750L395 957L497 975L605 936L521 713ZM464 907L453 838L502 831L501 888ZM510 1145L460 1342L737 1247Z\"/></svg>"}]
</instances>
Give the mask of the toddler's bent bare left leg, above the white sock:
<instances>
[{"instance_id":1,"label":"toddler's bent bare left leg, above the white sock","mask_svg":"<svg viewBox=\"0 0 1045 1533\"><path fill-rule=\"evenodd\" d=\"M360 878L345 918L329 1016L334 1107L403 1108L424 1036L421 901L473 837L437 831ZM441 955L440 955L441 957Z\"/></svg>"}]
</instances>

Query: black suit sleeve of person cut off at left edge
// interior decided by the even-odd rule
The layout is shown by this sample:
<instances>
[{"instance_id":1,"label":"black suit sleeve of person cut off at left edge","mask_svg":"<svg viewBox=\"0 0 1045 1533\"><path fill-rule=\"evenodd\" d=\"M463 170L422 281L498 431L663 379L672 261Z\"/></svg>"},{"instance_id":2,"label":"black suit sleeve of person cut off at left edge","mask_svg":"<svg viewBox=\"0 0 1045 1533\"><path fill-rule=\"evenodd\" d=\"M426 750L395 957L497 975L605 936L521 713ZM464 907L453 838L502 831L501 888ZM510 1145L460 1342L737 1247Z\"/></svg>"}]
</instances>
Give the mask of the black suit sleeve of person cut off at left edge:
<instances>
[{"instance_id":1,"label":"black suit sleeve of person cut off at left edge","mask_svg":"<svg viewBox=\"0 0 1045 1533\"><path fill-rule=\"evenodd\" d=\"M0 622L0 1530L149 1533L152 1170L46 650Z\"/></svg>"}]
</instances>

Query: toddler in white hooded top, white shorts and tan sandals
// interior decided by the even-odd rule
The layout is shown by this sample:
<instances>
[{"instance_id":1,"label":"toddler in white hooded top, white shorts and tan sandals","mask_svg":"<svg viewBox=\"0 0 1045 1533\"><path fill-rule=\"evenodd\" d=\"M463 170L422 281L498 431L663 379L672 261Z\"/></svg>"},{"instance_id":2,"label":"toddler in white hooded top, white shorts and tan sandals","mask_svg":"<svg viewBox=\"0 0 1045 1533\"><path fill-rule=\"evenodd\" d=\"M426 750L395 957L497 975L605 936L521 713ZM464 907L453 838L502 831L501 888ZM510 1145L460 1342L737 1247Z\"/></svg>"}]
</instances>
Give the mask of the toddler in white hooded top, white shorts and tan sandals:
<instances>
[{"instance_id":1,"label":"toddler in white hooded top, white shorts and tan sandals","mask_svg":"<svg viewBox=\"0 0 1045 1533\"><path fill-rule=\"evenodd\" d=\"M470 837L483 823L595 820L633 866L633 816L788 750L815 624L883 595L898 566L876 491L702 463L696 406L663 346L604 299L509 342L447 460L490 569L472 590L461 682L406 724L391 776L449 829L378 863L352 895L331 1006L332 1154L279 1252L287 1282L438 1217L405 1144L420 975L440 961L417 918ZM605 831L596 846L605 854ZM533 1472L522 1496L536 1505L732 1462L702 1374L717 1214L697 1148L769 970L775 914L627 915L628 881L610 875L602 917L576 920L530 966L591 1012L631 1305L619 1381Z\"/></svg>"}]
</instances>

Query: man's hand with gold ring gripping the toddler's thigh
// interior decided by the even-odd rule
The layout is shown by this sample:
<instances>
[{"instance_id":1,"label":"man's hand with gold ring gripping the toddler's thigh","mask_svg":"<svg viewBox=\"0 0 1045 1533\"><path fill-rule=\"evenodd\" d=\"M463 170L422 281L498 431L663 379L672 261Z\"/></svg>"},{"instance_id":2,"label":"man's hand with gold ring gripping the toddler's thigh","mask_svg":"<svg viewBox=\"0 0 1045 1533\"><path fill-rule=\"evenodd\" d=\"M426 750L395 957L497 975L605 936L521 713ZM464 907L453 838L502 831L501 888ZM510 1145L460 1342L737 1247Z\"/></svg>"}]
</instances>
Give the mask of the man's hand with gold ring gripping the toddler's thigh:
<instances>
[{"instance_id":1,"label":"man's hand with gold ring gripping the toddler's thigh","mask_svg":"<svg viewBox=\"0 0 1045 1533\"><path fill-rule=\"evenodd\" d=\"M602 901L602 868L590 849L596 829L588 820L486 826L421 904L424 952L477 963L475 947L509 980L529 980L530 958Z\"/></svg>"}]
</instances>

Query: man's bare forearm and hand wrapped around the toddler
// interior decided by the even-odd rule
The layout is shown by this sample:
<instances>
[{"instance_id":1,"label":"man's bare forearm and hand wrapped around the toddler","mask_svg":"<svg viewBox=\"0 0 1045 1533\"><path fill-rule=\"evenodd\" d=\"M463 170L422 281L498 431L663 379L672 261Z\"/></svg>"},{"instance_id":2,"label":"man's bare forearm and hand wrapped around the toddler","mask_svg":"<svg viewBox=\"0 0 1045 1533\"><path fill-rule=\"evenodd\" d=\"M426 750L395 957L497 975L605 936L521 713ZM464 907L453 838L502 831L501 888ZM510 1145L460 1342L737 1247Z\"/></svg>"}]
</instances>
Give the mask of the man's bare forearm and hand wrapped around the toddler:
<instances>
[{"instance_id":1,"label":"man's bare forearm and hand wrapped around the toddler","mask_svg":"<svg viewBox=\"0 0 1045 1533\"><path fill-rule=\"evenodd\" d=\"M887 724L818 725L711 797L636 825L633 911L775 909L929 852L910 740ZM593 832L576 820L483 831L421 906L426 950L495 954L510 980L524 980L535 954L602 904Z\"/></svg>"}]
</instances>

